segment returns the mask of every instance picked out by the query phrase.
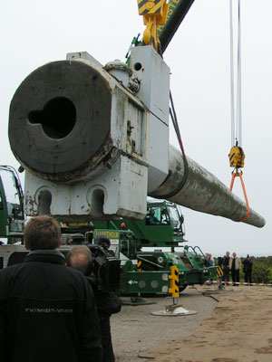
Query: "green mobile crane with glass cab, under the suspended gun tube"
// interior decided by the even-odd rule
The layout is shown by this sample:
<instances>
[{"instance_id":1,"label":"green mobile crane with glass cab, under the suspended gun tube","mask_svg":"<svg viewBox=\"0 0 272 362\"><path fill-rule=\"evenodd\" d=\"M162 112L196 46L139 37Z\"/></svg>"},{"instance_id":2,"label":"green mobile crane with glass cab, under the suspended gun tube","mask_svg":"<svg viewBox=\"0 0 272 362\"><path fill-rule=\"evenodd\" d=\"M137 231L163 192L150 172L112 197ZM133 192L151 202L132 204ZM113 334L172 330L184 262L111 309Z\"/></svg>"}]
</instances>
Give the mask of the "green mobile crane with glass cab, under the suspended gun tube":
<instances>
[{"instance_id":1,"label":"green mobile crane with glass cab, under the suspended gun tube","mask_svg":"<svg viewBox=\"0 0 272 362\"><path fill-rule=\"evenodd\" d=\"M149 201L144 220L95 221L95 233L104 233L121 259L121 292L169 292L172 267L178 268L177 287L203 284L217 277L199 246L184 245L183 215L178 205Z\"/></svg>"}]
</instances>

